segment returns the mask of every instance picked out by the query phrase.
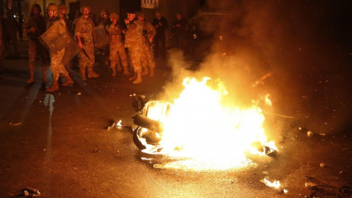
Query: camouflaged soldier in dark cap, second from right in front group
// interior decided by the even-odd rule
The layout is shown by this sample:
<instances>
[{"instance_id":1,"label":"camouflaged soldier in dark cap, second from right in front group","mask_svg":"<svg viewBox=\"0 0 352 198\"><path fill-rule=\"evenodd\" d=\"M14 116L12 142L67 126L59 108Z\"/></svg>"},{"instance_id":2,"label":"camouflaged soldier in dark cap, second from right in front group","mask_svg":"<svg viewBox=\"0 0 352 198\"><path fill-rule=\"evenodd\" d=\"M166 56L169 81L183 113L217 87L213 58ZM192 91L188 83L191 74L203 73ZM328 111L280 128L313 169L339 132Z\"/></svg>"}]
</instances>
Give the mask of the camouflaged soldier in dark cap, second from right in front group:
<instances>
[{"instance_id":1,"label":"camouflaged soldier in dark cap, second from right in front group","mask_svg":"<svg viewBox=\"0 0 352 198\"><path fill-rule=\"evenodd\" d=\"M134 69L134 77L130 78L133 84L142 83L142 66L141 66L141 45L142 45L142 23L136 20L135 11L129 9L127 11L127 26L125 34L125 47L128 48L128 54L131 58L132 67Z\"/></svg>"}]
</instances>

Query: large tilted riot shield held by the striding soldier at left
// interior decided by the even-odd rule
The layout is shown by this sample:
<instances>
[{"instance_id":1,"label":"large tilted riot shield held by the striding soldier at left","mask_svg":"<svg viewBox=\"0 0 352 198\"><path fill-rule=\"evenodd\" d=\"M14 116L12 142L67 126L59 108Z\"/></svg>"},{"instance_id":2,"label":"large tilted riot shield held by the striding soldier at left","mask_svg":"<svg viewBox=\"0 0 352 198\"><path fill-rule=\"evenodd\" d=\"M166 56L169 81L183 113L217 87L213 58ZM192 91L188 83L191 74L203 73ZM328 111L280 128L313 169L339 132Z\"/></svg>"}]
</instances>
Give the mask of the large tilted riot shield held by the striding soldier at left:
<instances>
[{"instance_id":1,"label":"large tilted riot shield held by the striding soldier at left","mask_svg":"<svg viewBox=\"0 0 352 198\"><path fill-rule=\"evenodd\" d=\"M80 50L73 36L61 23L52 25L38 39L53 54L65 50L62 64L67 64Z\"/></svg>"}]
</instances>

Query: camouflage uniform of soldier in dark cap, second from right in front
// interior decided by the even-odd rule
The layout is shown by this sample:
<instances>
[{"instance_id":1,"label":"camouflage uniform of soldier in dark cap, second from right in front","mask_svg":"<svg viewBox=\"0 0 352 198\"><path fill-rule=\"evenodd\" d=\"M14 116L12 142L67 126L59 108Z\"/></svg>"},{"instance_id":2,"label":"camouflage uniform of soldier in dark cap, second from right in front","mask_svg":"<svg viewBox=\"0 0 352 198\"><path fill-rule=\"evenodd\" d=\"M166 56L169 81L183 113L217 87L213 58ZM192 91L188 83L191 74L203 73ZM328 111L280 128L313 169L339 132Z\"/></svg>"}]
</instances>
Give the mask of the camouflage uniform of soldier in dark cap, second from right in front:
<instances>
[{"instance_id":1,"label":"camouflage uniform of soldier in dark cap, second from right in front","mask_svg":"<svg viewBox=\"0 0 352 198\"><path fill-rule=\"evenodd\" d=\"M142 73L141 45L142 23L139 20L131 21L127 25L125 34L125 47L128 48L128 54L131 58L132 67L137 76L140 76Z\"/></svg>"}]
</instances>

